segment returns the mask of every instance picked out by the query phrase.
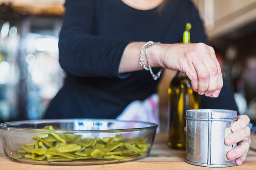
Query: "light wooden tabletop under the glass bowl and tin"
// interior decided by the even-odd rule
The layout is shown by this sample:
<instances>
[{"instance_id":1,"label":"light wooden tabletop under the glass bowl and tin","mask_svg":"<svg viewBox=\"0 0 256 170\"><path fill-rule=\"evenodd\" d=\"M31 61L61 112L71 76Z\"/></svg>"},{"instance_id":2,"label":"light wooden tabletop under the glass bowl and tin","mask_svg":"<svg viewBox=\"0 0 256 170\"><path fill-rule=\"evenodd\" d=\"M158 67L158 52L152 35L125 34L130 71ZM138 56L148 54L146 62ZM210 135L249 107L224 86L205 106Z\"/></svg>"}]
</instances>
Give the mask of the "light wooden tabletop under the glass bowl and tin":
<instances>
[{"instance_id":1,"label":"light wooden tabletop under the glass bowl and tin","mask_svg":"<svg viewBox=\"0 0 256 170\"><path fill-rule=\"evenodd\" d=\"M256 148L256 135L252 134L252 147ZM1 147L1 146L0 146ZM242 166L207 168L186 163L184 150L173 150L167 146L167 133L157 134L149 157L132 162L94 166L43 166L13 162L5 157L0 148L0 170L256 170L256 152L249 150Z\"/></svg>"}]
</instances>

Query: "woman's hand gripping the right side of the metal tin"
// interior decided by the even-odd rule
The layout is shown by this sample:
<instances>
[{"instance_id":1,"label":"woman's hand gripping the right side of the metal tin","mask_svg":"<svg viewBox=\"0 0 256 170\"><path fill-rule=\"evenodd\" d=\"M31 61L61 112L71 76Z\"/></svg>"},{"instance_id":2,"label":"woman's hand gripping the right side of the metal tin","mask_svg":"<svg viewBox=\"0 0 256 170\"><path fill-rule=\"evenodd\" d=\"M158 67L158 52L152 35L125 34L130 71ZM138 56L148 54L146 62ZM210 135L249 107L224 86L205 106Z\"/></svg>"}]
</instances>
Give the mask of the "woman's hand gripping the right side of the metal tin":
<instances>
[{"instance_id":1,"label":"woman's hand gripping the right side of the metal tin","mask_svg":"<svg viewBox=\"0 0 256 170\"><path fill-rule=\"evenodd\" d=\"M228 146L238 143L238 146L227 153L227 158L230 160L236 159L238 166L242 165L243 161L245 161L251 144L251 130L247 126L249 121L250 119L247 115L239 115L238 120L231 126L233 133L225 138L225 144Z\"/></svg>"}]
</instances>

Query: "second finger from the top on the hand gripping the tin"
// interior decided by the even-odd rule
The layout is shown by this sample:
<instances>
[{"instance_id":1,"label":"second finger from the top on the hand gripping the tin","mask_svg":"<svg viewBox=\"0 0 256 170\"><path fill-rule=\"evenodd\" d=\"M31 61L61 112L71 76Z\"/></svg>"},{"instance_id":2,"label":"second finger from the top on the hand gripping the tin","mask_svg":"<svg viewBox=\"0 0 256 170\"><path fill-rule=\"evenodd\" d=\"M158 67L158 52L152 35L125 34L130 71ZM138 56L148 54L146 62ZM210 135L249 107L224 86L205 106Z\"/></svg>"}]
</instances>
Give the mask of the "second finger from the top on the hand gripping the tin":
<instances>
[{"instance_id":1,"label":"second finger from the top on the hand gripping the tin","mask_svg":"<svg viewBox=\"0 0 256 170\"><path fill-rule=\"evenodd\" d=\"M229 134L225 138L224 142L227 146L230 146L230 145L238 143L239 141L242 141L243 139L248 137L250 134L251 134L251 130L248 126L246 126L242 130L239 130L237 132L233 132L233 133Z\"/></svg>"}]
</instances>

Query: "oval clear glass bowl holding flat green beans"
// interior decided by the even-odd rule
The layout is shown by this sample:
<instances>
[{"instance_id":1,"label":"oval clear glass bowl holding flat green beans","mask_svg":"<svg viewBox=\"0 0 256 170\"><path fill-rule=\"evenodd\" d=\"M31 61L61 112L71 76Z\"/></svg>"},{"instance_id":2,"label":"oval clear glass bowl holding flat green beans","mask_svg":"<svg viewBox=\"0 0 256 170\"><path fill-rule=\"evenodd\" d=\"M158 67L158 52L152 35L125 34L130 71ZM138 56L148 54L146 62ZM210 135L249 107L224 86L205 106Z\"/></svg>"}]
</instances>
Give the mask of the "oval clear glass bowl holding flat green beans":
<instances>
[{"instance_id":1,"label":"oval clear glass bowl holding flat green beans","mask_svg":"<svg viewBox=\"0 0 256 170\"><path fill-rule=\"evenodd\" d=\"M95 165L146 157L156 129L154 123L115 119L29 120L0 124L0 138L13 161Z\"/></svg>"}]
</instances>

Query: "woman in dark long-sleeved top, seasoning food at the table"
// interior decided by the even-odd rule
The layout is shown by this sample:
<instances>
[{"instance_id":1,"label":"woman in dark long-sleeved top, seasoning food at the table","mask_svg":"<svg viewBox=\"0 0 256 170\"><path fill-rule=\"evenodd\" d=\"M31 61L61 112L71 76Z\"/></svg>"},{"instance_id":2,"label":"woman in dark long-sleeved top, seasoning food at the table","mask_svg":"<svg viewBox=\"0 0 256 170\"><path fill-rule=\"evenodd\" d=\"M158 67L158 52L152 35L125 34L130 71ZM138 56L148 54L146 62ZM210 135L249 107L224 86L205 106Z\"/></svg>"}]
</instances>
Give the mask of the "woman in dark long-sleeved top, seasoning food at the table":
<instances>
[{"instance_id":1,"label":"woman in dark long-sleeved top, seasoning food at the table","mask_svg":"<svg viewBox=\"0 0 256 170\"><path fill-rule=\"evenodd\" d=\"M139 64L143 46L154 73L162 67L188 75L193 90L203 95L203 108L237 109L189 0L67 0L65 7L59 61L67 78L45 118L116 118L133 101L147 101L158 79L144 70L145 55ZM193 26L195 44L177 44L186 22ZM149 47L148 40L163 44ZM238 165L250 144L248 123L248 117L240 116L231 127L234 133L225 139L228 145L240 141L227 155L238 158Z\"/></svg>"}]
</instances>

